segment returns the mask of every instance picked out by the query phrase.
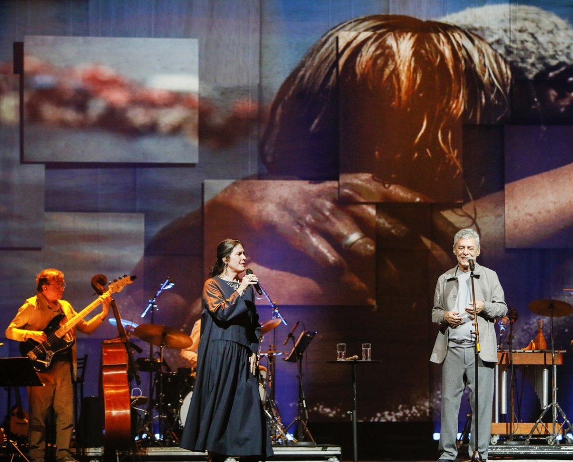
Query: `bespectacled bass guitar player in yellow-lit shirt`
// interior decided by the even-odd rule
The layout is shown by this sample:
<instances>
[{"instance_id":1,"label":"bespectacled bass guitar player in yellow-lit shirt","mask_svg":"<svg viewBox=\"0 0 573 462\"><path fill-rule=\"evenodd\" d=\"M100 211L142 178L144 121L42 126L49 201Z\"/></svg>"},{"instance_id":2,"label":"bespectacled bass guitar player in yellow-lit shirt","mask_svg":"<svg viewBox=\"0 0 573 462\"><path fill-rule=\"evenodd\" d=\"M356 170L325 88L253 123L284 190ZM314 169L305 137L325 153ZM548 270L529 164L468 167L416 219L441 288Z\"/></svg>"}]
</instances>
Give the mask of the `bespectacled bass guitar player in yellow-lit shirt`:
<instances>
[{"instance_id":1,"label":"bespectacled bass guitar player in yellow-lit shirt","mask_svg":"<svg viewBox=\"0 0 573 462\"><path fill-rule=\"evenodd\" d=\"M76 330L85 334L95 331L108 315L112 299L111 291L100 295L96 302L89 306L93 310L101 304L100 313L93 315L88 321L84 318L75 318L69 331L56 329L46 333L46 328L54 318L59 317L58 324L63 326L78 314L69 302L62 300L65 287L62 271L56 268L42 270L36 277L36 295L23 303L6 329L7 338L42 345L43 351L50 351L50 345L57 345L47 357L32 355L40 359L38 362L38 365L42 366L40 369L45 369L38 372L38 377L44 386L32 386L28 389L30 405L28 449L32 462L45 460L46 417L52 409L56 418L56 460L76 462L69 450L74 424L72 374L76 373L77 367ZM45 364L47 362L48 365Z\"/></svg>"}]
</instances>

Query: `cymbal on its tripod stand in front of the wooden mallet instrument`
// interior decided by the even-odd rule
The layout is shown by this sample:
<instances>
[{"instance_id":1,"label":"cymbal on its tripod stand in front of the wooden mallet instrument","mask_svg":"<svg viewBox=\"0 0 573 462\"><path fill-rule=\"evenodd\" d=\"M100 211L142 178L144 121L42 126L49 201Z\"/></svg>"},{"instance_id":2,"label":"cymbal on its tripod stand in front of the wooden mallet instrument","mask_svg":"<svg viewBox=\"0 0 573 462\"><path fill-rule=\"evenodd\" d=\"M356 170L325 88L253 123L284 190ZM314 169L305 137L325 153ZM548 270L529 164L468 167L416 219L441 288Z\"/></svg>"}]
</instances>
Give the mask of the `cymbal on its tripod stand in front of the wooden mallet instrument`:
<instances>
[{"instance_id":1,"label":"cymbal on its tripod stand in front of the wooden mallet instrument","mask_svg":"<svg viewBox=\"0 0 573 462\"><path fill-rule=\"evenodd\" d=\"M556 384L556 365L555 365L555 340L554 340L554 330L553 330L553 318L560 317L560 316L567 316L573 313L573 306L569 305L569 303L562 302L560 300L551 300L551 299L540 299L529 303L529 310L535 314L539 314L541 316L548 316L551 320L551 327L550 327L550 335L551 335L551 404L545 406L543 411L541 412L539 418L535 421L531 432L527 436L526 442L529 444L529 440L537 430L537 427L541 425L545 428L548 435L547 436L547 444L554 445L557 444L557 435L563 433L566 435L565 438L567 439L567 443L571 444L573 441L571 440L570 436L567 436L568 432L571 432L572 425L571 422L567 419L567 416L563 412L563 409L557 402L557 384ZM551 410L551 429L547 427L547 424L543 422L543 417L547 412ZM562 424L557 424L558 414L563 419Z\"/></svg>"}]
</instances>

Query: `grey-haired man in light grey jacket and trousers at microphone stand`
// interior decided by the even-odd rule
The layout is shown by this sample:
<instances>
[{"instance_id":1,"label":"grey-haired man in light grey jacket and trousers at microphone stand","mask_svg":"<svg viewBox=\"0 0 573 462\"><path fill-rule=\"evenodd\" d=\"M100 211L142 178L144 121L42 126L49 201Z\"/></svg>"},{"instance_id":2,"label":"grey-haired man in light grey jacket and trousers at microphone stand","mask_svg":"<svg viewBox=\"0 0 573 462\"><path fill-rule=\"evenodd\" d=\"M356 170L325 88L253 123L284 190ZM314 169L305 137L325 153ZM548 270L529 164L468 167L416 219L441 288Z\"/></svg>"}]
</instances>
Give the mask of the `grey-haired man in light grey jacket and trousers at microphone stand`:
<instances>
[{"instance_id":1,"label":"grey-haired man in light grey jacket and trousers at microphone stand","mask_svg":"<svg viewBox=\"0 0 573 462\"><path fill-rule=\"evenodd\" d=\"M460 402L467 384L470 390L472 416L478 416L478 438L475 440L475 420L469 456L486 460L492 425L494 375L497 362L497 342L494 321L507 313L504 293L495 271L476 263L480 255L480 236L466 228L454 236L454 255L458 264L438 278L434 293L432 322L440 326L430 361L442 365L442 417L439 438L439 462L456 459L456 435ZM471 269L470 269L471 268ZM471 274L474 275L475 307L472 297ZM476 329L477 314L479 344L476 398Z\"/></svg>"}]
</instances>

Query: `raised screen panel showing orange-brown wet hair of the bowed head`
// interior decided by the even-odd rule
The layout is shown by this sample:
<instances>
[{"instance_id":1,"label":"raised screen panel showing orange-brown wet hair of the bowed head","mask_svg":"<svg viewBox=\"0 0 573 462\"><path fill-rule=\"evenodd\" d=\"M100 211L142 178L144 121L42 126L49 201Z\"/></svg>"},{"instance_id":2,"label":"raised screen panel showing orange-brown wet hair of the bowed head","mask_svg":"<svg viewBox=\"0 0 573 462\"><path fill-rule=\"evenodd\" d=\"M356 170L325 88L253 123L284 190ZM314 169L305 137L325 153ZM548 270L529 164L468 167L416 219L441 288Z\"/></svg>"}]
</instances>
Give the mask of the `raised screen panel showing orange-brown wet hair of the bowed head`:
<instances>
[{"instance_id":1,"label":"raised screen panel showing orange-brown wet hair of the bowed head","mask_svg":"<svg viewBox=\"0 0 573 462\"><path fill-rule=\"evenodd\" d=\"M368 63L358 63L360 58L353 56L368 47L382 54L385 35L341 32L337 36L339 120L335 126L339 130L333 131L332 144L339 143L340 188L358 192L354 202L461 202L462 120L453 120L451 115L446 119L443 108L450 102L442 101L444 94L439 89L413 90L423 84L404 81L424 78L417 75L421 70L382 76L382 69L376 68L386 61L384 66L398 68L392 60L417 62L413 57L417 51L411 50L411 57L387 51ZM441 72L445 70L433 69L433 74ZM420 92L422 97L408 92ZM323 120L327 117L320 115L317 131L327 124Z\"/></svg>"}]
</instances>

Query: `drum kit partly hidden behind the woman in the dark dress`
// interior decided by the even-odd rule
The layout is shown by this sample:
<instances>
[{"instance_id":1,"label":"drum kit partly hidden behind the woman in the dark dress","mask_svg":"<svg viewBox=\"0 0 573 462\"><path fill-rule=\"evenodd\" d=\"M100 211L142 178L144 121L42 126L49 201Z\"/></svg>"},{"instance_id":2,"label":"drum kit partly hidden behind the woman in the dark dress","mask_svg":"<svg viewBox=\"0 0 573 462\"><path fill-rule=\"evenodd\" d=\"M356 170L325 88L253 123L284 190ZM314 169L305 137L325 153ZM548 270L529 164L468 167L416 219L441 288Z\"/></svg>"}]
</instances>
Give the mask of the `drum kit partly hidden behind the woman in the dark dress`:
<instances>
[{"instance_id":1,"label":"drum kit partly hidden behind the woman in the dark dress","mask_svg":"<svg viewBox=\"0 0 573 462\"><path fill-rule=\"evenodd\" d=\"M121 321L128 323L128 321ZM281 319L269 319L261 324L261 335L273 330ZM140 372L152 374L150 377L149 399L143 393L135 394L132 390L131 406L134 410L134 434L138 443L177 445L183 425L189 412L195 372L191 368L171 370L164 358L164 349L185 349L191 346L189 335L160 324L129 325L129 334L135 335L150 345L159 347L159 357L150 353L150 357L138 358L135 362ZM259 393L264 405L269 425L276 434L284 435L284 427L274 405L274 358L284 354L273 349L260 352L261 357L268 359L268 368L259 366ZM146 406L147 404L147 406ZM158 431L156 431L158 429Z\"/></svg>"}]
</instances>

